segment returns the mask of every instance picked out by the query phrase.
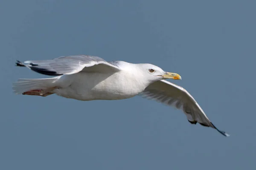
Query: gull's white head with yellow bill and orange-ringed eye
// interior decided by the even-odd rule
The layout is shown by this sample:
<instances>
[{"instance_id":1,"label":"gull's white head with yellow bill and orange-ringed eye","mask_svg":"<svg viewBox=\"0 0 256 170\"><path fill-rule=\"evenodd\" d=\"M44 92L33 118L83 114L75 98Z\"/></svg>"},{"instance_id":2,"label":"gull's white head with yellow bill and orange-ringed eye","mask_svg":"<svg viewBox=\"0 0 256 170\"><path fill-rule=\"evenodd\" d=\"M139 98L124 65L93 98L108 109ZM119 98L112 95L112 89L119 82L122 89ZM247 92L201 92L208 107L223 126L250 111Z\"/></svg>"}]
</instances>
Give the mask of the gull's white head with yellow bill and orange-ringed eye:
<instances>
[{"instance_id":1,"label":"gull's white head with yellow bill and orange-ringed eye","mask_svg":"<svg viewBox=\"0 0 256 170\"><path fill-rule=\"evenodd\" d=\"M157 67L156 65L142 64L141 66L144 73L143 75L152 81L158 81L161 79L181 79L179 74L163 71L162 68Z\"/></svg>"}]
</instances>

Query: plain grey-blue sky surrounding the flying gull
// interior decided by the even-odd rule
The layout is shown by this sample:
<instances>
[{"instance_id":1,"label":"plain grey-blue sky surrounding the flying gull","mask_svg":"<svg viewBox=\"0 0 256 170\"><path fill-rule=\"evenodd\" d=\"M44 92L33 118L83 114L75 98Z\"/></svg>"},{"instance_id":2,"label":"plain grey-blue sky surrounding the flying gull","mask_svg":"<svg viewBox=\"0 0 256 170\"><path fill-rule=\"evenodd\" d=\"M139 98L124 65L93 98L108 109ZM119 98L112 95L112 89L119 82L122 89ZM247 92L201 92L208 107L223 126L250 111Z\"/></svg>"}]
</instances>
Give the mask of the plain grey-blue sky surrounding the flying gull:
<instances>
[{"instance_id":1,"label":"plain grey-blue sky surrounding the flying gull","mask_svg":"<svg viewBox=\"0 0 256 170\"><path fill-rule=\"evenodd\" d=\"M3 0L1 170L256 169L253 0ZM221 130L136 96L82 102L12 93L47 77L15 60L89 54L152 63Z\"/></svg>"}]
</instances>

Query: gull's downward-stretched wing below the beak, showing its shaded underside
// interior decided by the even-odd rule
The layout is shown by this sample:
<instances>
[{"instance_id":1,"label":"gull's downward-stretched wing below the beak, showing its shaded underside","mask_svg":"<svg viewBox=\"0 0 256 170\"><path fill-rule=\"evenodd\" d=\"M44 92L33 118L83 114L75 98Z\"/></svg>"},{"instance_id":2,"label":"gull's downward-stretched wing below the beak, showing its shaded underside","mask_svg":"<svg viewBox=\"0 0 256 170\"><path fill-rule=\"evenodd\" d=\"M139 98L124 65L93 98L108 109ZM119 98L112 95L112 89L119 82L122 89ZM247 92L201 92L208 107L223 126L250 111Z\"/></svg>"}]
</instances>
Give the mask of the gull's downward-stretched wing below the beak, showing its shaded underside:
<instances>
[{"instance_id":1,"label":"gull's downward-stretched wing below the beak, showing its shaded underside","mask_svg":"<svg viewBox=\"0 0 256 170\"><path fill-rule=\"evenodd\" d=\"M189 92L178 85L166 80L160 80L149 85L140 95L169 106L174 106L177 109L182 109L188 121L192 124L198 122L203 126L218 130ZM224 131L218 130L218 132L224 136L229 136Z\"/></svg>"}]
</instances>

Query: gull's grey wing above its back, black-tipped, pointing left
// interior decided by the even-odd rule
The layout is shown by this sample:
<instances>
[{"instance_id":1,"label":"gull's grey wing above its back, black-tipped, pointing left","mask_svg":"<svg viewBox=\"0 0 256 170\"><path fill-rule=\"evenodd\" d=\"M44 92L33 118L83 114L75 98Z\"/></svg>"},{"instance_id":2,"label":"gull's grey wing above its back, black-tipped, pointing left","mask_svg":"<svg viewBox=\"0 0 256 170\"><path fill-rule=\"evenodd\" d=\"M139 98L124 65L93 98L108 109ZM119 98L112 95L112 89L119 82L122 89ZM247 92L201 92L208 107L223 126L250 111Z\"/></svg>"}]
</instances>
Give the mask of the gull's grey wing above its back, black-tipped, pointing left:
<instances>
[{"instance_id":1,"label":"gull's grey wing above its back, black-tipped, pointing left","mask_svg":"<svg viewBox=\"0 0 256 170\"><path fill-rule=\"evenodd\" d=\"M80 71L117 72L120 70L117 65L113 65L100 57L88 55L62 56L49 60L25 61L24 63L17 61L16 65L25 66L38 73L51 76L75 74Z\"/></svg>"}]
</instances>

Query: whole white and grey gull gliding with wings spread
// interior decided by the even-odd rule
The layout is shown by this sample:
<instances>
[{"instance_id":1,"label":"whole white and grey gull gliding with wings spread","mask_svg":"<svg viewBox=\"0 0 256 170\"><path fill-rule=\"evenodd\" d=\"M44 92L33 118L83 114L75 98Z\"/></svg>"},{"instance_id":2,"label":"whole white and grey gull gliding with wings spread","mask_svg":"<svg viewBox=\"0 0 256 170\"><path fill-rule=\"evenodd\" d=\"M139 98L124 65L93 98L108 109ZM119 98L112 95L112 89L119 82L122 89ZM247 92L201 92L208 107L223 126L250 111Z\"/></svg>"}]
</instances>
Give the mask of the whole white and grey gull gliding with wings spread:
<instances>
[{"instance_id":1,"label":"whole white and grey gull gliding with wings spread","mask_svg":"<svg viewBox=\"0 0 256 170\"><path fill-rule=\"evenodd\" d=\"M119 100L140 95L182 110L191 124L199 123L218 130L188 91L166 81L181 79L180 75L163 71L156 65L107 62L89 55L25 62L17 60L16 65L55 77L18 79L12 86L15 94L43 97L57 94L82 101ZM224 131L218 132L230 136Z\"/></svg>"}]
</instances>

